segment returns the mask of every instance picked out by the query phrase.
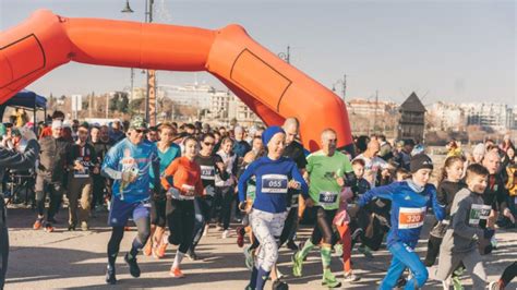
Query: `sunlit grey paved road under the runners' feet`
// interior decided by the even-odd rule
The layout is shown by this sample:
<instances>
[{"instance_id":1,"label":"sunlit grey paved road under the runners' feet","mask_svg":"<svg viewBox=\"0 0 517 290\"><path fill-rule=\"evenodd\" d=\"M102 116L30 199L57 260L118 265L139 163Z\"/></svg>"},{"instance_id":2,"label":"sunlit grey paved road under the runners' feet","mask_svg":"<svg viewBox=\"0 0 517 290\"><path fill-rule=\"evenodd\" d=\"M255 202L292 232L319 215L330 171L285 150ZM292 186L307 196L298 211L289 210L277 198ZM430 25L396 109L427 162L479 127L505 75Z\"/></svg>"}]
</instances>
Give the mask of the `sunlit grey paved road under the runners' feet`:
<instances>
[{"instance_id":1,"label":"sunlit grey paved road under the runners' feet","mask_svg":"<svg viewBox=\"0 0 517 290\"><path fill-rule=\"evenodd\" d=\"M29 227L35 214L31 209L10 209L9 221L11 226L11 254L8 273L7 289L48 289L48 288L107 288L104 281L106 267L106 246L110 229L106 227L106 214L93 219L92 230L88 232L65 231L67 210L61 210L57 216L61 220L57 231L46 233L41 230L34 231ZM426 228L432 220L426 221ZM429 230L424 229L426 233ZM301 229L301 239L305 239L310 229ZM504 267L517 259L517 230L500 231L497 238L500 246L494 254L485 257L485 265L490 278L496 279ZM121 252L130 247L135 231L127 232ZM156 261L152 257L141 256L139 262L142 277L134 279L129 275L129 269L123 263L123 257L117 261L119 283L115 288L170 288L181 289L244 289L250 273L243 265L242 250L235 243L235 234L221 240L220 232L212 231L199 246L202 261L191 262L184 259L182 270L184 279L173 279L168 276L168 269L173 259L176 247L170 247L164 259ZM420 242L418 252L423 254L425 240ZM280 252L280 270L290 273L290 254L287 249ZM362 277L360 283L345 285L344 288L374 289L384 277L389 265L389 253L381 250L374 253L373 259L366 259L354 252L352 261L357 274ZM341 264L333 259L333 270L340 273ZM303 278L288 277L290 289L322 289L321 262L317 251L311 253L304 267ZM338 278L342 277L341 275ZM465 277L468 281L468 278ZM432 277L425 289L441 289ZM111 287L113 288L113 287ZM269 288L269 286L267 286ZM516 289L514 281L507 289Z\"/></svg>"}]
</instances>

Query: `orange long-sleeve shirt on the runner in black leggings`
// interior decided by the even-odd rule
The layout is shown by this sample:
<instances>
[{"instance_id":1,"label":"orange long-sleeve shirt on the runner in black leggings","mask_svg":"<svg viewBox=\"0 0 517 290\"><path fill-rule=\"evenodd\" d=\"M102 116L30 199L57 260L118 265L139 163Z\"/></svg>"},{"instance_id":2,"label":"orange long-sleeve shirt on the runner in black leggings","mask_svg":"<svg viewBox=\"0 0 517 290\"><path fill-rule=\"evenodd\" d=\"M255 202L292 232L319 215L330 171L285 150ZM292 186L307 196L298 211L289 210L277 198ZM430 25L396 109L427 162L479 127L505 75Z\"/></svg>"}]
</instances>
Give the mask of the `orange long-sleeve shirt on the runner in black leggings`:
<instances>
[{"instance_id":1,"label":"orange long-sleeve shirt on the runner in black leggings","mask_svg":"<svg viewBox=\"0 0 517 290\"><path fill-rule=\"evenodd\" d=\"M172 196L175 198L193 200L195 195L203 195L200 165L184 156L175 159L165 170L161 185L167 191L177 189L180 196Z\"/></svg>"}]
</instances>

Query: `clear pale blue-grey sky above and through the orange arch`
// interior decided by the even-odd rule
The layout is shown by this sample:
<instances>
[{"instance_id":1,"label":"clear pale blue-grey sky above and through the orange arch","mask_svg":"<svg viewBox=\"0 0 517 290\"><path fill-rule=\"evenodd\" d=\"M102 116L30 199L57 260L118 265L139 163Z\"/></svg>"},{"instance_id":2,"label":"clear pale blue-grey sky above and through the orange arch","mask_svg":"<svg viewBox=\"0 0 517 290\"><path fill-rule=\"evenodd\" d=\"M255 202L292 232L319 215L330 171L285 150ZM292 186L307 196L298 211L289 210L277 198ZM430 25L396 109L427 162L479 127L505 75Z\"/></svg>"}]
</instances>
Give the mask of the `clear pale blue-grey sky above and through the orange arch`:
<instances>
[{"instance_id":1,"label":"clear pale blue-grey sky above and through the orange arch","mask_svg":"<svg viewBox=\"0 0 517 290\"><path fill-rule=\"evenodd\" d=\"M0 0L0 31L37 9L68 17L140 21L145 1ZM517 105L517 1L155 0L154 21L209 29L237 23L275 53L290 46L291 64L332 88L347 75L346 99L424 105ZM1 37L1 36L0 36ZM140 71L140 70L139 70ZM225 86L205 72L159 71L159 84ZM135 86L144 85L136 73ZM27 88L48 96L106 93L130 86L130 70L68 63Z\"/></svg>"}]
</instances>

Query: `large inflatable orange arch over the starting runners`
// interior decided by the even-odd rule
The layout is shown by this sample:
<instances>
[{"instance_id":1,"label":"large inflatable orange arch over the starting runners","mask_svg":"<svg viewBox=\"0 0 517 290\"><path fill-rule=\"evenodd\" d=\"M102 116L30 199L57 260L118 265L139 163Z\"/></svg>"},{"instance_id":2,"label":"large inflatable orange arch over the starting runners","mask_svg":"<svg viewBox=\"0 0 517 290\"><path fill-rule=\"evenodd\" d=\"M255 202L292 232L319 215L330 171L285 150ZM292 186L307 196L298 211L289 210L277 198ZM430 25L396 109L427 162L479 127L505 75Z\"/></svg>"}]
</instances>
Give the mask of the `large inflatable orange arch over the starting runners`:
<instances>
[{"instance_id":1,"label":"large inflatable orange arch over the starting runners","mask_svg":"<svg viewBox=\"0 0 517 290\"><path fill-rule=\"evenodd\" d=\"M209 31L165 24L69 19L48 10L0 33L0 104L69 61L168 71L207 71L267 125L300 120L305 148L320 148L321 132L352 143L344 101L255 43L239 25Z\"/></svg>"}]
</instances>

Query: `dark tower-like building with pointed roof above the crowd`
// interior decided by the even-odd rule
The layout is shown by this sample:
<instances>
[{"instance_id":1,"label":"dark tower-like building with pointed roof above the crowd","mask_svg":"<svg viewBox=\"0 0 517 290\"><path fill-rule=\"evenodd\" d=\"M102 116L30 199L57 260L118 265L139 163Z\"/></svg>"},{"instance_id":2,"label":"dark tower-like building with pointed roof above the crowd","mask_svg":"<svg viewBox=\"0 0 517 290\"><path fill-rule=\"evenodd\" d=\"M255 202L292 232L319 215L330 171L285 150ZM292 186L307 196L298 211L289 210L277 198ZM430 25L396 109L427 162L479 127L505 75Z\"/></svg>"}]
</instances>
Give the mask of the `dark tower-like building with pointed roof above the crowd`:
<instances>
[{"instance_id":1,"label":"dark tower-like building with pointed roof above the crowd","mask_svg":"<svg viewBox=\"0 0 517 290\"><path fill-rule=\"evenodd\" d=\"M416 142L423 141L425 107L423 107L414 92L400 105L399 112L398 138L412 138Z\"/></svg>"}]
</instances>

